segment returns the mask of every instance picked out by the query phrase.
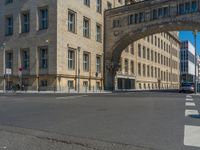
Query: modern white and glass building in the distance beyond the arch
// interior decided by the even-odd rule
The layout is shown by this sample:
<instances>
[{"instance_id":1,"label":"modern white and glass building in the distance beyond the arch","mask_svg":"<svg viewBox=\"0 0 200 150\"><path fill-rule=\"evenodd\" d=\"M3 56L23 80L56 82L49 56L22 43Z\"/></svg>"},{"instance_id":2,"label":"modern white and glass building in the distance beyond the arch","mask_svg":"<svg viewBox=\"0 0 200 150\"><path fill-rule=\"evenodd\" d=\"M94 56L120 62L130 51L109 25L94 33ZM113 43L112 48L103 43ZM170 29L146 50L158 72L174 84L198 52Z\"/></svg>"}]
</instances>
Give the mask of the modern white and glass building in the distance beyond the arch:
<instances>
[{"instance_id":1,"label":"modern white and glass building in the distance beyond the arch","mask_svg":"<svg viewBox=\"0 0 200 150\"><path fill-rule=\"evenodd\" d=\"M190 41L183 41L181 43L180 57L181 82L194 82L195 48Z\"/></svg>"}]
</instances>

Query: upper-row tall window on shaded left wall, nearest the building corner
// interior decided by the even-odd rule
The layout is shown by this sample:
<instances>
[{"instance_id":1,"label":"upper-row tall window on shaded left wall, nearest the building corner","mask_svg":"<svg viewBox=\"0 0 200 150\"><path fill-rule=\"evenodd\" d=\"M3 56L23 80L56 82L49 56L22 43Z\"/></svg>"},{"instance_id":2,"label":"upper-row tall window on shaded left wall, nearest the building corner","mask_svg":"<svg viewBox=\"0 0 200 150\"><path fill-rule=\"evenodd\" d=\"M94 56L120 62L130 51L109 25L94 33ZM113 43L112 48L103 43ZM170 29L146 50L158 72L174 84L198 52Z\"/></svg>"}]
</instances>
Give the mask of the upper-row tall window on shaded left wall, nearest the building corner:
<instances>
[{"instance_id":1,"label":"upper-row tall window on shaded left wall, nearest the building corner","mask_svg":"<svg viewBox=\"0 0 200 150\"><path fill-rule=\"evenodd\" d=\"M48 28L48 8L39 9L39 29L44 30Z\"/></svg>"}]
</instances>

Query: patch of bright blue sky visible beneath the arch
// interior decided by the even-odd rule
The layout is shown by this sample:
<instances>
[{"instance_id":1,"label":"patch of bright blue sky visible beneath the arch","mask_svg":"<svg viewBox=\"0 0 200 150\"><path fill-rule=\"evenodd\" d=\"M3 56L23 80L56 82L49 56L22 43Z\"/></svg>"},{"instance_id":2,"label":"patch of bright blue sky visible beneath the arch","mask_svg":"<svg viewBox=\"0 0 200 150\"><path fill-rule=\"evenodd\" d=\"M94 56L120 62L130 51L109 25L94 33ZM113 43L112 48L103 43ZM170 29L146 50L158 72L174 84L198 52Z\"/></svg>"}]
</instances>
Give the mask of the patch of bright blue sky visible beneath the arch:
<instances>
[{"instance_id":1,"label":"patch of bright blue sky visible beneath the arch","mask_svg":"<svg viewBox=\"0 0 200 150\"><path fill-rule=\"evenodd\" d=\"M194 35L191 31L181 31L179 38L181 41L189 40L194 45ZM200 54L200 33L197 34L197 52Z\"/></svg>"}]
</instances>

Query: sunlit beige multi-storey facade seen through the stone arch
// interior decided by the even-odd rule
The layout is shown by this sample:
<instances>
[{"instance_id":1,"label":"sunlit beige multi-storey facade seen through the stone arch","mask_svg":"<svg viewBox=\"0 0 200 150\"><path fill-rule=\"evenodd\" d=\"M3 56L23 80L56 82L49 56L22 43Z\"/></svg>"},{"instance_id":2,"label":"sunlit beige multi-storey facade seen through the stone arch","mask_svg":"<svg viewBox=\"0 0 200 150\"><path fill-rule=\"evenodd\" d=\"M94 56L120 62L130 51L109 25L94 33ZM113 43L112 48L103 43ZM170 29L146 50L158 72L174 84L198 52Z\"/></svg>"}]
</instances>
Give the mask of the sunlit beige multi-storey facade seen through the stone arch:
<instances>
[{"instance_id":1,"label":"sunlit beige multi-storey facade seen through the stone arch","mask_svg":"<svg viewBox=\"0 0 200 150\"><path fill-rule=\"evenodd\" d=\"M179 88L179 52L178 32L150 35L134 42L122 53L115 88Z\"/></svg>"}]
</instances>

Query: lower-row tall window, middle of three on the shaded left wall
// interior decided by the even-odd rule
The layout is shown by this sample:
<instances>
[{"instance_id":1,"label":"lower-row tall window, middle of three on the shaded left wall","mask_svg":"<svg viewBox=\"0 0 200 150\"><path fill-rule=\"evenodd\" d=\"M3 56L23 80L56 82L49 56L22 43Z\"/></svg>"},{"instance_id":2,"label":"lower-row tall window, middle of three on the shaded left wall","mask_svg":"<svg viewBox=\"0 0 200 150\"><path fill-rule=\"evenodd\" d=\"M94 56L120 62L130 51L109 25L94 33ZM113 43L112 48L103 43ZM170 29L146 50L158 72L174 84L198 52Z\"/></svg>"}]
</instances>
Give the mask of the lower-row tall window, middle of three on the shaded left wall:
<instances>
[{"instance_id":1,"label":"lower-row tall window, middle of three on the shaded left wall","mask_svg":"<svg viewBox=\"0 0 200 150\"><path fill-rule=\"evenodd\" d=\"M22 68L29 70L30 67L30 53L28 49L22 50Z\"/></svg>"}]
</instances>

